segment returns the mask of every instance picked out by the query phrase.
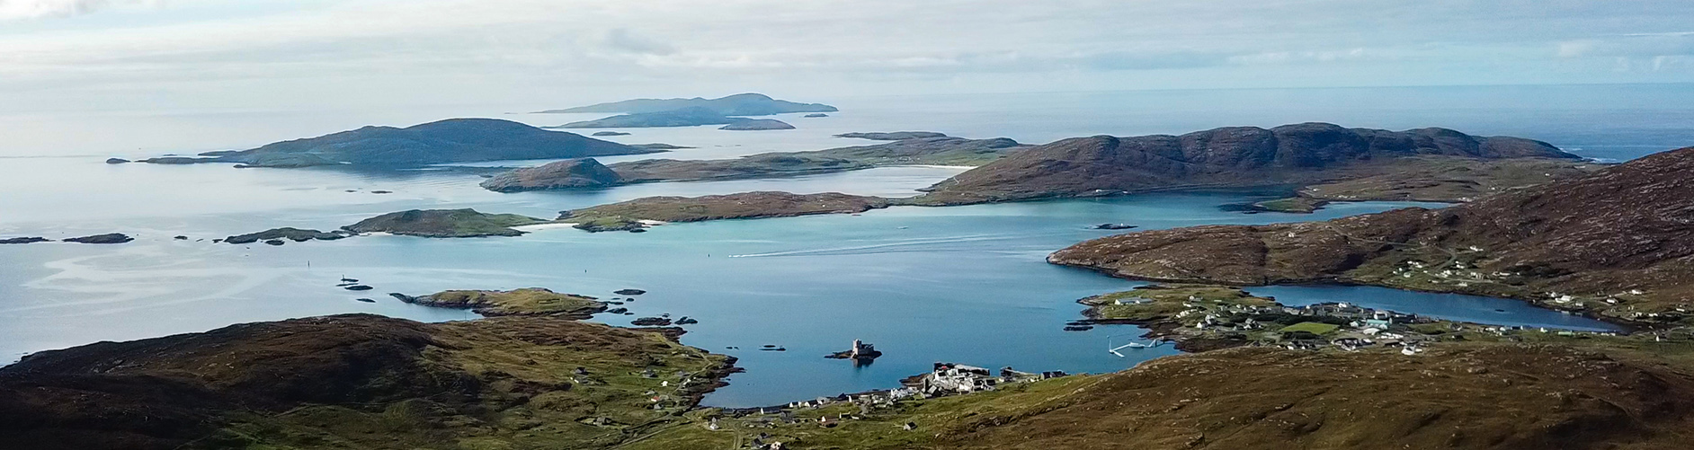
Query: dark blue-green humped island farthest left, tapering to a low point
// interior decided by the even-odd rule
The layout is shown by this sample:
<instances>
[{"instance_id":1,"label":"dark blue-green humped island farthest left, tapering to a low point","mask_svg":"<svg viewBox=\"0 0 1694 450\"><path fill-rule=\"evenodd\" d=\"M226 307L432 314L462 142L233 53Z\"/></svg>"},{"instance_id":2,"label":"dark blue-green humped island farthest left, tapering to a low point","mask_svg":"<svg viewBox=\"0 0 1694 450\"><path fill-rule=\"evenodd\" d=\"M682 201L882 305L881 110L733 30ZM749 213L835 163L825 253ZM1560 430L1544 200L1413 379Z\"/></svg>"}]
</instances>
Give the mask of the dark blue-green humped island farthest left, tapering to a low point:
<instances>
[{"instance_id":1,"label":"dark blue-green humped island farthest left, tapering to a low point","mask_svg":"<svg viewBox=\"0 0 1694 450\"><path fill-rule=\"evenodd\" d=\"M249 151L203 152L200 157L152 157L139 162L235 162L237 167L417 167L451 162L650 152L661 151L606 142L569 132L542 130L510 120L449 118L405 129L363 127L320 137L283 140Z\"/></svg>"}]
</instances>

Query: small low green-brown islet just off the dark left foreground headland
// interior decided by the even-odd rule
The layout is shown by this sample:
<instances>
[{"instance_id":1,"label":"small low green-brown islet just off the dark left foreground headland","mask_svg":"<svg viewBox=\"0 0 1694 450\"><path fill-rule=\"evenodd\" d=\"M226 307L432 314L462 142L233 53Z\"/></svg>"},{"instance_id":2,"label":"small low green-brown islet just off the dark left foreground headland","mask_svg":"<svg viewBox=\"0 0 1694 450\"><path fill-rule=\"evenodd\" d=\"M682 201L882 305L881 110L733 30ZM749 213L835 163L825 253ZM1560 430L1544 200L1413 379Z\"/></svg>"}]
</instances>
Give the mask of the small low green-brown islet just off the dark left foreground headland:
<instances>
[{"instance_id":1,"label":"small low green-brown islet just off the dark left foreground headland","mask_svg":"<svg viewBox=\"0 0 1694 450\"><path fill-rule=\"evenodd\" d=\"M427 296L390 293L395 299L435 306L471 310L483 316L564 316L586 320L606 311L606 303L591 296L561 294L544 288L513 291L442 291Z\"/></svg>"}]
</instances>

